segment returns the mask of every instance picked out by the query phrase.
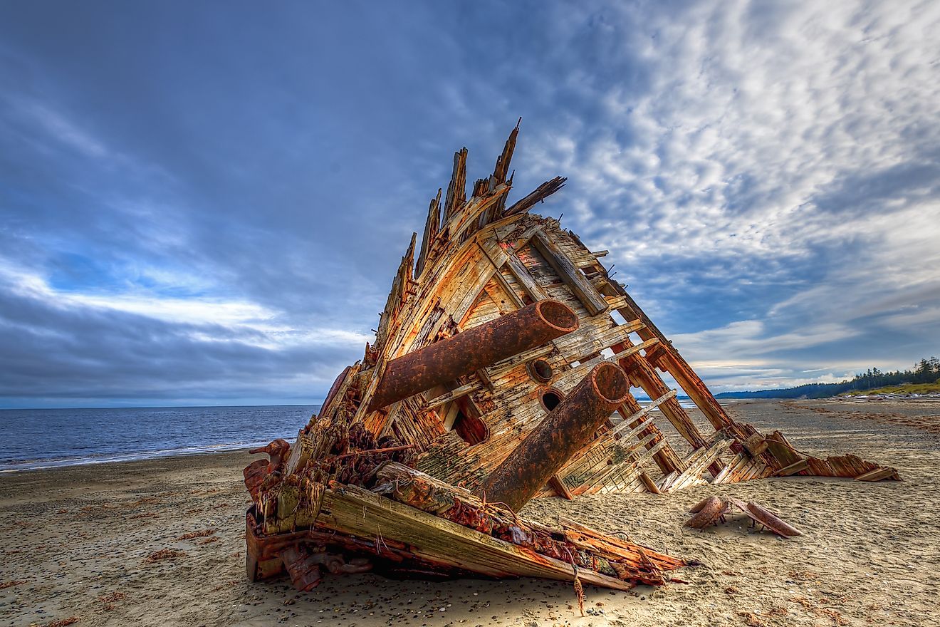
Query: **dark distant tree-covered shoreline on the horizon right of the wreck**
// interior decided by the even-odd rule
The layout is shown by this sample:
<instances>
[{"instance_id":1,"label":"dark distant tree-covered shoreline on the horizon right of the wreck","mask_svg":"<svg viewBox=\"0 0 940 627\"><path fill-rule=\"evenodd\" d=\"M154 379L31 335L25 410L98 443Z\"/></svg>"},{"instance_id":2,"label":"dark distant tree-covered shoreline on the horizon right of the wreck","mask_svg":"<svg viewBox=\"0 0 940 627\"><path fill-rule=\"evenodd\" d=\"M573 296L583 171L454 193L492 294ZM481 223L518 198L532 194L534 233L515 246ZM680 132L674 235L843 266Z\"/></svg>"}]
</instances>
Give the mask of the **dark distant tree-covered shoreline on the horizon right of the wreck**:
<instances>
[{"instance_id":1,"label":"dark distant tree-covered shoreline on the horizon right of the wreck","mask_svg":"<svg viewBox=\"0 0 940 627\"><path fill-rule=\"evenodd\" d=\"M757 390L754 392L722 392L718 399L823 399L845 394L846 392L865 392L885 385L897 384L932 384L940 379L940 360L936 357L921 359L913 370L895 370L882 372L878 368L869 368L868 372L856 374L851 381L838 384L806 384L776 390Z\"/></svg>"}]
</instances>

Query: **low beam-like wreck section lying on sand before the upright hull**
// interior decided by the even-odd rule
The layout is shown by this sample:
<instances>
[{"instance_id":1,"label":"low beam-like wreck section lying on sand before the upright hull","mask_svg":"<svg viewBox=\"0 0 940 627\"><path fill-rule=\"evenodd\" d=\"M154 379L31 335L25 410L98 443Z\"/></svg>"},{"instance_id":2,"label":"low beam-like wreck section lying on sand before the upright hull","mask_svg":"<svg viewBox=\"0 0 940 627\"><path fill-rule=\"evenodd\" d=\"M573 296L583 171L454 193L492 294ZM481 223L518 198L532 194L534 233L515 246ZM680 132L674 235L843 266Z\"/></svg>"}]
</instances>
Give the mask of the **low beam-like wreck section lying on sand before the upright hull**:
<instances>
[{"instance_id":1,"label":"low beam-like wreck section lying on sand before the upright hull","mask_svg":"<svg viewBox=\"0 0 940 627\"><path fill-rule=\"evenodd\" d=\"M518 516L407 465L411 447L375 441L361 423L318 419L305 437L321 455L245 469L257 484L247 514L252 580L287 571L301 590L324 572L423 577L535 576L604 588L661 585L686 562L572 521ZM277 447L279 452L280 448ZM341 480L340 480L341 479Z\"/></svg>"}]
</instances>

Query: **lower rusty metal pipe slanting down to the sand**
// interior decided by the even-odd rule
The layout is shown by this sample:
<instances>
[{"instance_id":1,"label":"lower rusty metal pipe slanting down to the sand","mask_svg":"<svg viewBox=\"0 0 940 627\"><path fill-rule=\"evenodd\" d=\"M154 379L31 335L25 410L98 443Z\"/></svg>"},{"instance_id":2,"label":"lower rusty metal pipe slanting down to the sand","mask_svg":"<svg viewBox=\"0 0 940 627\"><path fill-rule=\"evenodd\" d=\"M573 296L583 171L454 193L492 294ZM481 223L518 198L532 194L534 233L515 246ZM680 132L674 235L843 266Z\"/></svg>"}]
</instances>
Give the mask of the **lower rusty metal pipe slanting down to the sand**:
<instances>
[{"instance_id":1,"label":"lower rusty metal pipe slanting down to the sand","mask_svg":"<svg viewBox=\"0 0 940 627\"><path fill-rule=\"evenodd\" d=\"M488 502L505 503L519 511L574 453L591 441L604 419L628 394L630 381L623 369L601 362L490 473L477 494Z\"/></svg>"}]
</instances>

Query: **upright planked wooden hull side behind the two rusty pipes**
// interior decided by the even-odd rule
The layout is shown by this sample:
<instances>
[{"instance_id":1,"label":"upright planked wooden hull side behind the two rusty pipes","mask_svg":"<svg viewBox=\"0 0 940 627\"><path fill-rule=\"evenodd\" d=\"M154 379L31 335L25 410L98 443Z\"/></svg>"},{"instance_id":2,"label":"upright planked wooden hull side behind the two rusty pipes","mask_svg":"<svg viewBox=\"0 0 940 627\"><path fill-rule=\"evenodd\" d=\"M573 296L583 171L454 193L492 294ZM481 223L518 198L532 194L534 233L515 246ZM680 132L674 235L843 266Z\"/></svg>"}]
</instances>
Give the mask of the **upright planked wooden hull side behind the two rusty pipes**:
<instances>
[{"instance_id":1,"label":"upright planked wooden hull side behind the two rusty pipes","mask_svg":"<svg viewBox=\"0 0 940 627\"><path fill-rule=\"evenodd\" d=\"M619 364L652 401L643 407L631 395L619 407L618 424L611 421L599 430L542 495L668 493L703 481L770 477L791 465L794 455L810 459L794 452L782 434L766 442L749 425L732 420L625 286L610 278L601 261L607 251L592 252L555 219L529 212L565 179L546 181L506 207L518 133L518 127L512 130L493 174L477 180L469 198L462 182L467 151L454 155L444 204L439 191L431 200L420 246L415 234L401 259L375 343L352 367L357 382L368 380L352 419L365 421L377 436L415 444L417 469L473 488L538 425L546 413L542 392L553 388L565 394L607 360ZM366 411L390 360L547 298L577 313L577 331L446 386ZM525 368L536 360L551 368L549 381L537 381ZM699 430L660 372L681 386L713 432ZM341 411L324 404L321 415ZM677 446L666 433L684 443ZM303 437L298 442L303 446ZM854 478L879 467L836 457L807 462L794 472ZM897 478L896 473L888 476Z\"/></svg>"}]
</instances>

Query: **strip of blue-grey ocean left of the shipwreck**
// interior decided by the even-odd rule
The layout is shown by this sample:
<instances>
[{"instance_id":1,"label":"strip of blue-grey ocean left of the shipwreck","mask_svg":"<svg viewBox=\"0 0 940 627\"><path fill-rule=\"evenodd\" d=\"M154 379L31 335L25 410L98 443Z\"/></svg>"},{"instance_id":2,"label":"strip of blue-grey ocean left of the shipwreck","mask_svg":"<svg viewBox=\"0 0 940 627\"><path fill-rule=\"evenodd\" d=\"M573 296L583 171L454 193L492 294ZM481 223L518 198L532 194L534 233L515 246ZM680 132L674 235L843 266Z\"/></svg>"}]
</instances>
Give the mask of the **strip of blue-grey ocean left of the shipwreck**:
<instances>
[{"instance_id":1,"label":"strip of blue-grey ocean left of the shipwreck","mask_svg":"<svg viewBox=\"0 0 940 627\"><path fill-rule=\"evenodd\" d=\"M320 405L0 410L0 472L293 442Z\"/></svg>"}]
</instances>

